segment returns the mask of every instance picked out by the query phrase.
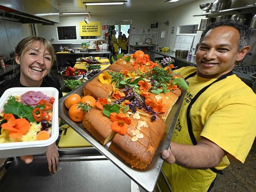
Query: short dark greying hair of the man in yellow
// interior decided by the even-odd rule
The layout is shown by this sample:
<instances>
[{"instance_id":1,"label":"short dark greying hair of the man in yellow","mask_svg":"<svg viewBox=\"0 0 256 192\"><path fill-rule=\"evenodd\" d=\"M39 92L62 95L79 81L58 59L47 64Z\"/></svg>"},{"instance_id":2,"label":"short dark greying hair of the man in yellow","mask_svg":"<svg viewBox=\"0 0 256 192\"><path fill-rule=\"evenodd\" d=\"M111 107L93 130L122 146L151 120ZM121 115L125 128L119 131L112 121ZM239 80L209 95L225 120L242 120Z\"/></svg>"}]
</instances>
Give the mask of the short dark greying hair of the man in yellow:
<instances>
[{"instance_id":1,"label":"short dark greying hair of the man in yellow","mask_svg":"<svg viewBox=\"0 0 256 192\"><path fill-rule=\"evenodd\" d=\"M210 24L202 33L199 44L202 42L204 35L211 29L220 27L220 26L230 26L234 27L239 31L240 34L240 39L238 42L238 51L241 51L245 46L249 45L250 42L250 37L252 35L252 30L249 28L249 26L242 25L237 23L234 20L229 20L229 19L223 19L220 20L219 22L213 22Z\"/></svg>"}]
</instances>

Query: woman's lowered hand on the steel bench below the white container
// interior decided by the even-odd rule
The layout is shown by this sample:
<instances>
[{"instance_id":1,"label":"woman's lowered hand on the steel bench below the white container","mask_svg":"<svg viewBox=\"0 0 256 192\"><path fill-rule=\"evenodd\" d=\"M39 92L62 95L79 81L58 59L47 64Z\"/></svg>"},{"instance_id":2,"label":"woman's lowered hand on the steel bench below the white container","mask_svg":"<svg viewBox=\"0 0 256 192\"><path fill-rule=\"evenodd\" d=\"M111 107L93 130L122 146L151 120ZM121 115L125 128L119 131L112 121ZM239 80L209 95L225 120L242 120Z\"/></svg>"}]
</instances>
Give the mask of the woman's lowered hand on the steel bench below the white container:
<instances>
[{"instance_id":1,"label":"woman's lowered hand on the steel bench below the white container","mask_svg":"<svg viewBox=\"0 0 256 192\"><path fill-rule=\"evenodd\" d=\"M49 171L56 173L56 166L59 164L59 152L55 143L49 145L46 149L46 158Z\"/></svg>"}]
</instances>

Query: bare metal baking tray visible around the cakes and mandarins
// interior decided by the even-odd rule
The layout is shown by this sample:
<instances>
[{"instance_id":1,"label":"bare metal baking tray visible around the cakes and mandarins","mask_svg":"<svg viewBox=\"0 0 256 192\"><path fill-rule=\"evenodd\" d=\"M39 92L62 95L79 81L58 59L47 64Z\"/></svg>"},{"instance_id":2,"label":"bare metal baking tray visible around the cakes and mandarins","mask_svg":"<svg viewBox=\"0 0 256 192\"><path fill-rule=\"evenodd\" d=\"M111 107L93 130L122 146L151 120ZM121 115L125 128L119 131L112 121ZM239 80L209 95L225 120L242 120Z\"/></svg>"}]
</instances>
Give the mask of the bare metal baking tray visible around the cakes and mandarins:
<instances>
[{"instance_id":1,"label":"bare metal baking tray visible around the cakes and mandarins","mask_svg":"<svg viewBox=\"0 0 256 192\"><path fill-rule=\"evenodd\" d=\"M97 77L98 75L96 75L94 78ZM74 122L69 118L68 110L65 107L65 99L73 93L77 93L80 96L83 96L83 87L92 79L93 78L89 79L88 81L86 81L76 89L72 90L59 100L59 117L67 122L67 124L69 124L69 126L72 127L83 138L87 139L98 151L100 151L100 153L102 153L102 155L105 155L111 162L113 162L120 170L122 170L126 175L133 179L138 185L140 185L148 192L152 192L156 186L158 176L161 172L161 167L163 166L164 162L161 157L161 151L163 151L164 149L168 149L169 147L173 134L173 129L176 124L176 120L178 118L186 91L182 90L182 94L178 98L177 102L173 105L173 108L171 109L171 112L169 113L165 121L165 133L160 141L160 144L158 146L158 149L156 150L156 154L154 155L152 161L146 169L139 170L136 168L132 168L129 164L124 162L113 151L109 149L111 141L103 146L83 127L82 122Z\"/></svg>"}]
</instances>

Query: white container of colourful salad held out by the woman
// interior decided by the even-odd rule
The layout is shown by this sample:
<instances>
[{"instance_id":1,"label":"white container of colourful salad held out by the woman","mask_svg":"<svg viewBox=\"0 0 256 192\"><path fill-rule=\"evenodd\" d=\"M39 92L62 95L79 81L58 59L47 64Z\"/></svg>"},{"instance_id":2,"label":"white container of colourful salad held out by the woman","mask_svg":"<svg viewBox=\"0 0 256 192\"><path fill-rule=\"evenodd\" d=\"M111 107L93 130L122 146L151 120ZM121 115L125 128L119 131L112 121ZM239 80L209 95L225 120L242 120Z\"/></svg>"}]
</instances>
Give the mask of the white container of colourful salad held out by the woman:
<instances>
[{"instance_id":1,"label":"white container of colourful salad held out by the woman","mask_svg":"<svg viewBox=\"0 0 256 192\"><path fill-rule=\"evenodd\" d=\"M0 98L0 158L36 155L59 135L58 90L15 87Z\"/></svg>"}]
</instances>

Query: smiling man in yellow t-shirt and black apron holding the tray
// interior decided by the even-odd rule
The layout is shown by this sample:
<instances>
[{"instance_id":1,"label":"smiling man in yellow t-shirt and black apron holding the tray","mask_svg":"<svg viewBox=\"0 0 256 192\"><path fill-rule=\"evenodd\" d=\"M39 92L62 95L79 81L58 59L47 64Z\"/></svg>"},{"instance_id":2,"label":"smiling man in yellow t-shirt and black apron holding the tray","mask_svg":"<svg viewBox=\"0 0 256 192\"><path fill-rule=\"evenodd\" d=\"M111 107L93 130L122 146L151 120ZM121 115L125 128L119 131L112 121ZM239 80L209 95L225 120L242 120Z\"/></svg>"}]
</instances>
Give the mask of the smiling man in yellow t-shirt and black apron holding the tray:
<instances>
[{"instance_id":1,"label":"smiling man in yellow t-shirt and black apron holding the tray","mask_svg":"<svg viewBox=\"0 0 256 192\"><path fill-rule=\"evenodd\" d=\"M222 20L202 33L198 68L176 70L187 90L172 141L162 151L173 192L210 191L228 157L244 162L256 135L256 94L232 74L250 51L251 30ZM204 89L203 89L204 88ZM242 113L241 113L242 112Z\"/></svg>"}]
</instances>

